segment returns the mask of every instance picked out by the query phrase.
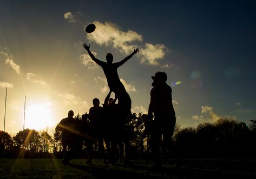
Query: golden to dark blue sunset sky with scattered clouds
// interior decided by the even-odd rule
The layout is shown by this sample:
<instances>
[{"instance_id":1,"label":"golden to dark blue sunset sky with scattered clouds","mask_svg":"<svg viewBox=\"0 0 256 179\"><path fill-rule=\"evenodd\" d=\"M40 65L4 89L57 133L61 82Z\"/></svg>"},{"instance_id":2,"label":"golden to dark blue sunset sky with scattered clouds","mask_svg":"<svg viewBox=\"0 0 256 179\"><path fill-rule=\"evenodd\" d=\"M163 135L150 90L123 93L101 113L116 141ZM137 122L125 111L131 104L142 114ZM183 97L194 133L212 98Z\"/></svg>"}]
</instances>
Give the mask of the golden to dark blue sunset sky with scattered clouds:
<instances>
[{"instance_id":1,"label":"golden to dark blue sunset sky with scattered clouds","mask_svg":"<svg viewBox=\"0 0 256 179\"><path fill-rule=\"evenodd\" d=\"M1 1L0 130L53 133L69 110L103 103L107 81L83 43L102 61L111 52L114 63L140 49L118 69L134 113L147 113L150 77L164 71L181 127L226 116L249 125L255 9L255 1Z\"/></svg>"}]
</instances>

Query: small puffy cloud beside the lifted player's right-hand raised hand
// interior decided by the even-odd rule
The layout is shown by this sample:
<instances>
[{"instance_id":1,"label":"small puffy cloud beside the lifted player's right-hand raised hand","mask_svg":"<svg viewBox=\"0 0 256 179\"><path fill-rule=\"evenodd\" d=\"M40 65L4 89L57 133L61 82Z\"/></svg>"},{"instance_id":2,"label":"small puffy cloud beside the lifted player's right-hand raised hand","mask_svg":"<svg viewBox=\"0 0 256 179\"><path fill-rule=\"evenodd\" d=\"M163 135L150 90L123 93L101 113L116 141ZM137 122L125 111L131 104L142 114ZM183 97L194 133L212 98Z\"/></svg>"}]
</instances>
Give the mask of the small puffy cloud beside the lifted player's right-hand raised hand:
<instances>
[{"instance_id":1,"label":"small puffy cloud beside the lifted player's right-hand raised hand","mask_svg":"<svg viewBox=\"0 0 256 179\"><path fill-rule=\"evenodd\" d=\"M167 47L163 44L145 44L145 48L141 49L141 63L148 65L160 65L159 60L165 57Z\"/></svg>"}]
</instances>

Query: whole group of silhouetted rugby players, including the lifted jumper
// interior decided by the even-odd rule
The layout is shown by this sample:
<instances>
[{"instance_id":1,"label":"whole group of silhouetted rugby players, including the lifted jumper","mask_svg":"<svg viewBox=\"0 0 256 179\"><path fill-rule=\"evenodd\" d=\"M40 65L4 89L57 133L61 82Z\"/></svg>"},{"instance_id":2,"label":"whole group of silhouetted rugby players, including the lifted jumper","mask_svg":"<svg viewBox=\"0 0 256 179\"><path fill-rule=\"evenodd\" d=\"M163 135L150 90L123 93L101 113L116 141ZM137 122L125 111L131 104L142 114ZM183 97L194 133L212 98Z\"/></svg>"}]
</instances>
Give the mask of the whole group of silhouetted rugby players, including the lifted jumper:
<instances>
[{"instance_id":1,"label":"whole group of silhouetted rugby players, including the lifted jumper","mask_svg":"<svg viewBox=\"0 0 256 179\"><path fill-rule=\"evenodd\" d=\"M69 160L79 153L83 139L86 140L87 144L87 164L92 164L90 157L91 139L97 139L104 163L114 164L116 162L117 146L120 154L123 154L124 149L124 163L130 163L130 139L126 123L132 117L130 111L132 100L120 81L117 68L139 52L139 49L135 49L123 60L113 63L111 53L107 53L107 62L104 62L95 58L90 51L90 45L83 44L83 47L88 51L91 59L102 67L110 91L104 100L103 107L100 106L99 99L95 98L93 99L93 107L90 108L88 114L82 115L82 120L74 120L74 112L69 111L68 118L61 120L58 124L62 130L63 143L68 141L68 149L65 152L63 163L69 164ZM157 72L152 76L152 79L153 88L150 91L148 114L143 115L143 119L145 119L145 127L150 136L150 152L152 152L156 166L161 166L161 152L165 152L172 143L176 118L172 104L172 88L166 83L167 74ZM110 98L112 92L115 94L115 99ZM116 101L118 102L116 103ZM107 150L104 148L104 143ZM63 147L66 149L67 146ZM122 159L122 155L120 156Z\"/></svg>"}]
</instances>

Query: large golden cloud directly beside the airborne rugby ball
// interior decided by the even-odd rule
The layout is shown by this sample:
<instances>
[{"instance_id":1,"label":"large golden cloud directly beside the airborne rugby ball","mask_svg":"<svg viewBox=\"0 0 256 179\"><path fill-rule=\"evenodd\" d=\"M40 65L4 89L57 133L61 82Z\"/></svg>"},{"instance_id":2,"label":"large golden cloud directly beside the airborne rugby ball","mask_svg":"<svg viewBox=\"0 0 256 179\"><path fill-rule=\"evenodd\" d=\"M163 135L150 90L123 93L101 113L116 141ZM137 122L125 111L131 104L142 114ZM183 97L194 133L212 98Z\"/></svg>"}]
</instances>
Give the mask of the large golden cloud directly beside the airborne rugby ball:
<instances>
[{"instance_id":1,"label":"large golden cloud directly beside the airborne rugby ball","mask_svg":"<svg viewBox=\"0 0 256 179\"><path fill-rule=\"evenodd\" d=\"M124 32L121 27L110 22L100 23L99 21L93 22L96 25L96 30L93 33L87 33L87 38L91 42L99 45L113 46L114 49L119 50L121 53L130 54L135 49L132 42L141 42L142 35L139 33L128 30ZM84 27L84 31L86 26Z\"/></svg>"}]
</instances>

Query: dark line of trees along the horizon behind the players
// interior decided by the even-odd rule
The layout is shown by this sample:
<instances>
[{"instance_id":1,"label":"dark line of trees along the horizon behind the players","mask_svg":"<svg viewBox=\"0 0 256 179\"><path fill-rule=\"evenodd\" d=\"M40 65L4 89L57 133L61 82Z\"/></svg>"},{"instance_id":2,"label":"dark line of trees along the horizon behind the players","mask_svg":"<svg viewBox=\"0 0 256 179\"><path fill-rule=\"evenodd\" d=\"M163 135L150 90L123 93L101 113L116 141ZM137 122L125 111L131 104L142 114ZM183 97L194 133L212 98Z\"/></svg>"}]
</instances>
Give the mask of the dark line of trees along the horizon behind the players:
<instances>
[{"instance_id":1,"label":"dark line of trees along the horizon behind the players","mask_svg":"<svg viewBox=\"0 0 256 179\"><path fill-rule=\"evenodd\" d=\"M130 134L131 156L145 159L149 154L147 135L141 113L133 113L127 123ZM77 114L76 119L81 120ZM83 144L86 151L86 144ZM99 157L97 142L93 143L94 157ZM63 157L61 132L55 127L54 135L34 129L20 130L11 137L0 130L0 157ZM82 157L86 157L86 152ZM200 123L196 127L181 128L176 124L173 147L169 157L256 157L256 120L250 125L233 118L220 118L216 122Z\"/></svg>"}]
</instances>

